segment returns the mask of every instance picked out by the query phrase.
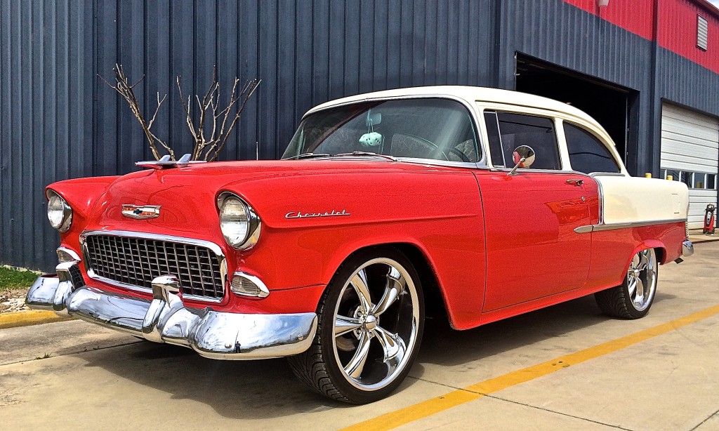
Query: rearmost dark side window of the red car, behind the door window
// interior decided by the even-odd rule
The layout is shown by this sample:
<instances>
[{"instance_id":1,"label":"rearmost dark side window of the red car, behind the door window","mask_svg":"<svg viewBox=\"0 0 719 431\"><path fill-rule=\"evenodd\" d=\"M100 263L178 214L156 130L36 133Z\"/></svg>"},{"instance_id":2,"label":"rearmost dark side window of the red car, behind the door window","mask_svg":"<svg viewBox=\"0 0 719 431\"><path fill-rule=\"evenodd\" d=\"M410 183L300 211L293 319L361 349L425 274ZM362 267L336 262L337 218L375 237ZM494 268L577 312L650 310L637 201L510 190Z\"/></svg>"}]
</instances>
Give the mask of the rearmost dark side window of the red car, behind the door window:
<instances>
[{"instance_id":1,"label":"rearmost dark side window of the red car, behind the door window","mask_svg":"<svg viewBox=\"0 0 719 431\"><path fill-rule=\"evenodd\" d=\"M596 136L580 127L564 123L567 151L572 169L590 172L621 172L609 149Z\"/></svg>"}]
</instances>

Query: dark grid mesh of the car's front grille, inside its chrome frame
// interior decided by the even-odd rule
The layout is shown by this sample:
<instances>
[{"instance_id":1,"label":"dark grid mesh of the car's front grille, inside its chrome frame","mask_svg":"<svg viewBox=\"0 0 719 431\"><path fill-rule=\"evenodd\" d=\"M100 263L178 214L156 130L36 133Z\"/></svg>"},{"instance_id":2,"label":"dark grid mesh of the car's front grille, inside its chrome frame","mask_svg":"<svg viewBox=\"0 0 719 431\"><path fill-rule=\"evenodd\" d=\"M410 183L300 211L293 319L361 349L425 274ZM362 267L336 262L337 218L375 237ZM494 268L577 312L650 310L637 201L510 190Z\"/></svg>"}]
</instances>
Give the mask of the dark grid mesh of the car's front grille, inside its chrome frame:
<instances>
[{"instance_id":1,"label":"dark grid mesh of the car's front grille, inside its chrome frame","mask_svg":"<svg viewBox=\"0 0 719 431\"><path fill-rule=\"evenodd\" d=\"M224 296L219 257L207 247L112 235L87 236L85 246L88 269L96 276L152 289L155 277L175 275L183 295Z\"/></svg>"}]
</instances>

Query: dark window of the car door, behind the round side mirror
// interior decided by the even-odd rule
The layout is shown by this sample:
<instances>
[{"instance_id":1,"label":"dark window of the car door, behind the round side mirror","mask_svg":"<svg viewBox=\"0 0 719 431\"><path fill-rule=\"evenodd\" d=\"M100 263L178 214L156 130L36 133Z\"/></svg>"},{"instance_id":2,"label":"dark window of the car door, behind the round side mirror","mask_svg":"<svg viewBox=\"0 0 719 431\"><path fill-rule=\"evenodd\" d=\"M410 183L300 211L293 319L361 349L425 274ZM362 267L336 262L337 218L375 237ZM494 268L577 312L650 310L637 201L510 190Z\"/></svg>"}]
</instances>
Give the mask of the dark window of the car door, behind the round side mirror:
<instances>
[{"instance_id":1,"label":"dark window of the car door, behind the round side mirror","mask_svg":"<svg viewBox=\"0 0 719 431\"><path fill-rule=\"evenodd\" d=\"M531 147L536 158L530 169L559 170L559 148L554 121L521 113L485 112L487 137L495 167L513 167L516 147Z\"/></svg>"}]
</instances>

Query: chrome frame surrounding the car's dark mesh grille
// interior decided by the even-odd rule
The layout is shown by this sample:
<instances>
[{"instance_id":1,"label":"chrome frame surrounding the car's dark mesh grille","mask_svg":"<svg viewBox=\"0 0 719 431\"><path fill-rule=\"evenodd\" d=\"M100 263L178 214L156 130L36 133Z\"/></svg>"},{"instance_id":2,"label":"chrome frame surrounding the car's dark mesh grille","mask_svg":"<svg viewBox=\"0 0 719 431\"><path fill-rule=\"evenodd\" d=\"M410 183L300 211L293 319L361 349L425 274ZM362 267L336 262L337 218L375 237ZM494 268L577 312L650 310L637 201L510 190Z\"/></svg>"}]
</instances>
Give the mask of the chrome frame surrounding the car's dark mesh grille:
<instances>
[{"instance_id":1,"label":"chrome frame surrounding the car's dark mesh grille","mask_svg":"<svg viewBox=\"0 0 719 431\"><path fill-rule=\"evenodd\" d=\"M144 293L152 293L152 289L149 289L147 287L142 286L136 286L134 284L127 284L123 282L117 282L112 279L108 279L105 277L101 277L98 274L95 274L93 269L91 269L89 259L89 251L87 248L87 242L86 238L88 236L93 235L109 235L109 236L122 236L125 238L140 238L140 239L154 239L158 241L170 241L170 242L176 242L180 244L188 244L191 246L201 246L206 247L207 249L210 249L216 256L219 261L220 266L220 277L222 282L222 291L223 295L219 298L213 298L213 297L203 297L203 296L197 296L197 295L183 295L183 298L186 298L188 300L196 300L201 302L222 302L224 298L227 296L227 261L225 259L225 255L222 252L222 249L220 246L215 244L211 241L204 241L202 239L195 239L195 238L185 238L183 236L171 236L171 235L162 235L162 234L156 234L156 233L147 233L147 232L134 232L134 231L84 231L80 234L80 246L83 250L83 257L84 263L85 263L85 272L88 274L88 277L91 279L98 280L99 282L104 282L107 284L111 284L116 287L123 287L124 289L134 290L135 292L144 292Z\"/></svg>"}]
</instances>

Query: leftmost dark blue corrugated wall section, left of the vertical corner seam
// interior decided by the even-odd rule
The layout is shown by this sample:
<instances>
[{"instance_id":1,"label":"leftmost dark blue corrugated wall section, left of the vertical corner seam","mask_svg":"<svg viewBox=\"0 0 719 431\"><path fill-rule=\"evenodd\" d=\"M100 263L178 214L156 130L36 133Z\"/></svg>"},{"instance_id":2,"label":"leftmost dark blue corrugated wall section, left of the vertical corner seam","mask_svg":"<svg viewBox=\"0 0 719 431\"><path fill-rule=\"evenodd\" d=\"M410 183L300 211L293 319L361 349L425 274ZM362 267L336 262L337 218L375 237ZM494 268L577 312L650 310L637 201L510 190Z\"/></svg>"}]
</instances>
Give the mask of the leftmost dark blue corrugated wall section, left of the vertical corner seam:
<instances>
[{"instance_id":1,"label":"leftmost dark blue corrugated wall section, left of the vertical corner seam","mask_svg":"<svg viewBox=\"0 0 719 431\"><path fill-rule=\"evenodd\" d=\"M0 2L2 263L52 267L43 188L94 173L92 13L82 1Z\"/></svg>"}]
</instances>

